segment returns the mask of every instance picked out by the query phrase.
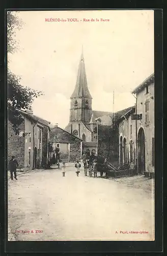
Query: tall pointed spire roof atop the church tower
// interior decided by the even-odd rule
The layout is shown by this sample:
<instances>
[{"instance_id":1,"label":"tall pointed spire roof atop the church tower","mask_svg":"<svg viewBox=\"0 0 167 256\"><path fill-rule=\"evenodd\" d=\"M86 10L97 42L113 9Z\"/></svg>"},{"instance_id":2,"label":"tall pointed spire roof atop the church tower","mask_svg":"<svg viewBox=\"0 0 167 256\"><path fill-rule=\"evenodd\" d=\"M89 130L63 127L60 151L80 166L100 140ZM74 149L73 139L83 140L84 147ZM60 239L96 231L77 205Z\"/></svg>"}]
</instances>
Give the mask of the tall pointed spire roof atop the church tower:
<instances>
[{"instance_id":1,"label":"tall pointed spire roof atop the church tower","mask_svg":"<svg viewBox=\"0 0 167 256\"><path fill-rule=\"evenodd\" d=\"M83 51L82 51L80 61L79 61L75 89L74 89L73 94L71 95L71 98L75 98L75 97L85 97L85 98L92 99L92 96L89 92L88 84L87 84L87 76L86 76L86 70L85 70Z\"/></svg>"}]
</instances>

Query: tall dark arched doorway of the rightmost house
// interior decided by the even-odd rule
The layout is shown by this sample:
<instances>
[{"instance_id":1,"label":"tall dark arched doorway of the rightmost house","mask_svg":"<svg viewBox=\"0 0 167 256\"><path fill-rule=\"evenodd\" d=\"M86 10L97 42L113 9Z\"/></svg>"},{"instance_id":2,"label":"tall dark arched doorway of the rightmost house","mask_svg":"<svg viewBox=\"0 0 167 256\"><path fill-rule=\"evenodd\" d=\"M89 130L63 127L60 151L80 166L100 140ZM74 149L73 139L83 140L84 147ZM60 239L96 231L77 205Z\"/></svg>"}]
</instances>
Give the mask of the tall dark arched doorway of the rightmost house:
<instances>
[{"instance_id":1,"label":"tall dark arched doorway of the rightmost house","mask_svg":"<svg viewBox=\"0 0 167 256\"><path fill-rule=\"evenodd\" d=\"M146 170L145 165L145 132L141 127L138 131L138 173L144 174Z\"/></svg>"}]
</instances>

